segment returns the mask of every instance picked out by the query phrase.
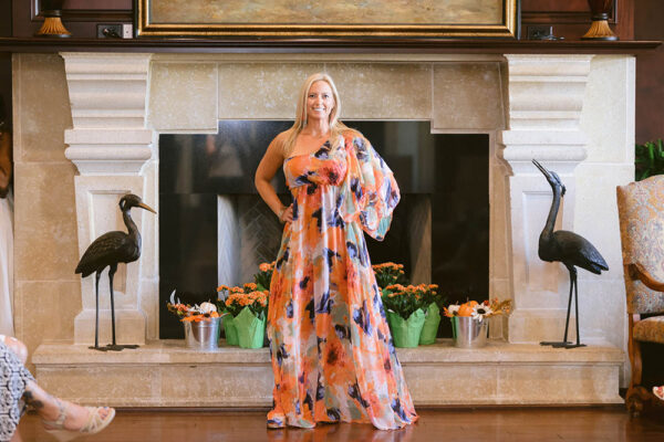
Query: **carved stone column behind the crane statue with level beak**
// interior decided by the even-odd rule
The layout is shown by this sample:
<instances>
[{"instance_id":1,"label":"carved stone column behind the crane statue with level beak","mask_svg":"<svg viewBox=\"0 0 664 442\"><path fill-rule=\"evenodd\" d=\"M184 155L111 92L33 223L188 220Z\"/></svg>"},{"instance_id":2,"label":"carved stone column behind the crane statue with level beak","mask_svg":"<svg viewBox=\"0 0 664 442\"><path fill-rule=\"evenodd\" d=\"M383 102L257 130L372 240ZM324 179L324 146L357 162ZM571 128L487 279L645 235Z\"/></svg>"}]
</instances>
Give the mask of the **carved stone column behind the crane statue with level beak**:
<instances>
[{"instance_id":1,"label":"carved stone column behind the crane statue with level beak","mask_svg":"<svg viewBox=\"0 0 664 442\"><path fill-rule=\"evenodd\" d=\"M151 54L61 53L74 127L65 130L65 156L76 165L76 219L81 255L98 235L126 231L117 206L127 192L157 209L154 134L146 128ZM120 344L145 344L157 335L157 219L143 210L132 217L143 236L137 263L115 275L116 336ZM83 311L74 320L75 344L94 341L94 277L82 280ZM147 333L146 333L147 332ZM100 345L111 339L107 271L100 281Z\"/></svg>"}]
</instances>

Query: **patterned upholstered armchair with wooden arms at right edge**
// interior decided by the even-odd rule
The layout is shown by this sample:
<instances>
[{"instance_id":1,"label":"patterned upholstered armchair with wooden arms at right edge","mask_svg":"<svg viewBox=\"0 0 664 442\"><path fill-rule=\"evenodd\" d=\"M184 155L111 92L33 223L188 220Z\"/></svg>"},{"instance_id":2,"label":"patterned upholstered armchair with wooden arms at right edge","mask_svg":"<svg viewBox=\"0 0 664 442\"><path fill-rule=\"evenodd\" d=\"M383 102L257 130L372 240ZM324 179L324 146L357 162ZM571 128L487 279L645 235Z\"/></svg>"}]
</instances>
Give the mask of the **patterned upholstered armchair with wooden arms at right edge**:
<instances>
[{"instance_id":1,"label":"patterned upholstered armchair with wooden arms at right edge","mask_svg":"<svg viewBox=\"0 0 664 442\"><path fill-rule=\"evenodd\" d=\"M640 343L663 344L664 351L664 176L618 187L618 211L632 364L625 403L637 414L653 399L641 386Z\"/></svg>"}]
</instances>

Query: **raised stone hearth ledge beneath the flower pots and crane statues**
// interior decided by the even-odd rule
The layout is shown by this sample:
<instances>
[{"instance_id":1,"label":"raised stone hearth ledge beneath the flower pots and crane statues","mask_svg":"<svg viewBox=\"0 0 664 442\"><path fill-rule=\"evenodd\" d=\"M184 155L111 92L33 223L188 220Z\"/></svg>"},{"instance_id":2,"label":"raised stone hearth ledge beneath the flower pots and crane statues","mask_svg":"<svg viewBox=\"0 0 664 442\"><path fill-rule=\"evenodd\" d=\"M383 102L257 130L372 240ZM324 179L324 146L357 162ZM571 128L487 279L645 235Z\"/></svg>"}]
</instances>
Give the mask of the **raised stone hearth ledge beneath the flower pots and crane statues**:
<instances>
[{"instance_id":1,"label":"raised stone hearth ledge beneath the flower pots and crane statues","mask_svg":"<svg viewBox=\"0 0 664 442\"><path fill-rule=\"evenodd\" d=\"M574 351L492 341L459 349L448 339L397 355L416 406L621 403L623 354L612 346ZM113 407L270 407L267 348L198 352L179 340L121 355L70 345L42 346L40 383L84 403ZM96 386L90 388L91 386Z\"/></svg>"}]
</instances>

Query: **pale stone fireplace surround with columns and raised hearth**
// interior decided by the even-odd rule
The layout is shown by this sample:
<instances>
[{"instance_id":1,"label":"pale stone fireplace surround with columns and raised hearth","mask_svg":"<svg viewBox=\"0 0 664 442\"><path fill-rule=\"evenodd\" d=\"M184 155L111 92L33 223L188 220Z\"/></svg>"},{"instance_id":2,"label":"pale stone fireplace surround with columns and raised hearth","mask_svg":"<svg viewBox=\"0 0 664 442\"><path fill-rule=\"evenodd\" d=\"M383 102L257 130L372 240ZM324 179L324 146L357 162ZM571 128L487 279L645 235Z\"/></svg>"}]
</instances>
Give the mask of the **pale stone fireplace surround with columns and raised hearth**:
<instances>
[{"instance_id":1,"label":"pale stone fireplace surround with columns and raised hearth","mask_svg":"<svg viewBox=\"0 0 664 442\"><path fill-rule=\"evenodd\" d=\"M216 134L219 120L289 119L302 78L326 71L343 99L342 118L428 120L432 133L488 135L489 293L512 299L513 313L492 322L496 340L486 350L456 350L448 343L400 350L416 404L541 403L532 392L537 379L550 380L547 403L620 401L626 316L614 194L615 186L633 179L633 56L72 52L13 60L17 332L37 349L38 378L54 392L121 406L269 406L267 349L201 355L158 340L158 215L134 211L143 256L116 275L118 340L142 349L86 349L94 285L91 277L80 282L73 269L92 240L124 229L115 204L123 193L142 196L159 212L160 134ZM56 146L44 141L49 135ZM588 238L611 269L601 277L579 275L581 336L592 344L587 349L537 345L561 338L569 281L562 266L537 256L550 188L532 158L567 186L558 228ZM35 197L48 200L37 210L28 206ZM38 241L62 243L65 252L35 250ZM54 282L59 301L45 301L58 317L54 333L41 330L29 313L46 290L32 270L35 262L46 263L46 280ZM102 343L110 337L105 276ZM153 368L139 369L147 366ZM470 366L494 382L483 398L452 387ZM221 368L199 381L196 398L173 385L214 367ZM219 380L239 378L242 369L260 379L259 392ZM100 387L94 394L59 387L72 377L92 382L123 376L147 386ZM216 381L222 392L206 396Z\"/></svg>"}]
</instances>

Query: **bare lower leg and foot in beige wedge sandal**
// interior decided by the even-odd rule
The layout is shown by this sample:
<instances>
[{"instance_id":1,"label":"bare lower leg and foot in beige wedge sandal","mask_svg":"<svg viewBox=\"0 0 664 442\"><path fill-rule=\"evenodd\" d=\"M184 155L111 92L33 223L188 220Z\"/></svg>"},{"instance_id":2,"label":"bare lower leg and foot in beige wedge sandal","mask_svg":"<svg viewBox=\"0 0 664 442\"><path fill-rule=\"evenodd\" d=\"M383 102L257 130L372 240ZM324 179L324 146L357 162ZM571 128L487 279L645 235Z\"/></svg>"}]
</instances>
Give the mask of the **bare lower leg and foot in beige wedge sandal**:
<instances>
[{"instance_id":1,"label":"bare lower leg and foot in beige wedge sandal","mask_svg":"<svg viewBox=\"0 0 664 442\"><path fill-rule=\"evenodd\" d=\"M102 421L113 412L113 409L106 407L90 409L54 398L33 381L28 382L23 399L42 418L46 428L55 428L55 424L50 423L62 420L64 417L62 428L70 431L79 431L89 422L91 412L96 412Z\"/></svg>"}]
</instances>

